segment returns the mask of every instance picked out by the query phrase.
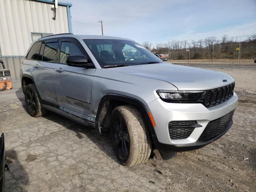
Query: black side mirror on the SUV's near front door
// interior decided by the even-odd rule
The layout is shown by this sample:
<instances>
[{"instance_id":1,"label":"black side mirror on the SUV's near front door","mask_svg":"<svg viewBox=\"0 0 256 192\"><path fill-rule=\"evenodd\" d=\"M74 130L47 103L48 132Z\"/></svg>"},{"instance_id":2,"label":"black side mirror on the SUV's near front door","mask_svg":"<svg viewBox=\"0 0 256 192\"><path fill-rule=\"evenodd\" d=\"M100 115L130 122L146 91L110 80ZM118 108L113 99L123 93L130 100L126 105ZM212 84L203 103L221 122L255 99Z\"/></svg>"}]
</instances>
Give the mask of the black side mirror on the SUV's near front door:
<instances>
[{"instance_id":1,"label":"black side mirror on the SUV's near front door","mask_svg":"<svg viewBox=\"0 0 256 192\"><path fill-rule=\"evenodd\" d=\"M67 56L67 65L72 67L94 68L94 65L88 63L88 58L84 55Z\"/></svg>"}]
</instances>

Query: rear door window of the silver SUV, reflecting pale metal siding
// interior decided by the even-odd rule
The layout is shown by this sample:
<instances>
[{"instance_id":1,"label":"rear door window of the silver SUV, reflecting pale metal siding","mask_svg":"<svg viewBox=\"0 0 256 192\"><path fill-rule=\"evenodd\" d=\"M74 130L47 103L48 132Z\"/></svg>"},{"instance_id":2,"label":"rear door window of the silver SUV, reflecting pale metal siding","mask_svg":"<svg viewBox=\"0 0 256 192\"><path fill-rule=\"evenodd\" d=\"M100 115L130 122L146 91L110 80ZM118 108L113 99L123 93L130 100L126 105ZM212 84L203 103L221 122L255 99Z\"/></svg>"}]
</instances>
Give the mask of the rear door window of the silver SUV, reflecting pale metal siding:
<instances>
[{"instance_id":1,"label":"rear door window of the silver SUV, reflecting pale metal siding","mask_svg":"<svg viewBox=\"0 0 256 192\"><path fill-rule=\"evenodd\" d=\"M42 60L47 62L54 62L58 52L58 45L58 42L46 42Z\"/></svg>"}]
</instances>

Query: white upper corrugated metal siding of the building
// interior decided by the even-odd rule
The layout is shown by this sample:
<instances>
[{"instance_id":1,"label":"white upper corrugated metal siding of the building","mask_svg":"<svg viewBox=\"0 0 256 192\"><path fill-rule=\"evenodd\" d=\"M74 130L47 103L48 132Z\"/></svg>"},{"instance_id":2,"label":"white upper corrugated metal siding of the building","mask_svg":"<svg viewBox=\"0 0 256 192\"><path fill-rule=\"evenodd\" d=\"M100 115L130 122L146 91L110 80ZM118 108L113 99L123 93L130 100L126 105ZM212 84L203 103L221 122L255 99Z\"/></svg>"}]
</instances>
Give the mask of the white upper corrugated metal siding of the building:
<instances>
[{"instance_id":1,"label":"white upper corrugated metal siding of the building","mask_svg":"<svg viewBox=\"0 0 256 192\"><path fill-rule=\"evenodd\" d=\"M58 6L56 20L52 4L32 0L0 0L0 47L2 56L24 56L31 32L68 33L66 6Z\"/></svg>"}]
</instances>

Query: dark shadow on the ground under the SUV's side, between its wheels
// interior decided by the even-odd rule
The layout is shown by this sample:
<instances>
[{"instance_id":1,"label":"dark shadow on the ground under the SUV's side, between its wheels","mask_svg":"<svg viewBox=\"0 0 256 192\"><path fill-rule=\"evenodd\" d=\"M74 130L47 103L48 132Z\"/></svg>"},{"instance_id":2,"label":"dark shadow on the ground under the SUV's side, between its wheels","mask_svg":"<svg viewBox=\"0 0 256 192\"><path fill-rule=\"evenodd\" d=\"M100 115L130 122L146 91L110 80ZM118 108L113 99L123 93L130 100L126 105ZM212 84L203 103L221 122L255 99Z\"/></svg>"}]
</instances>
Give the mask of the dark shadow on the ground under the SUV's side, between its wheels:
<instances>
[{"instance_id":1,"label":"dark shadow on the ground under the SUV's side, between its wheels","mask_svg":"<svg viewBox=\"0 0 256 192\"><path fill-rule=\"evenodd\" d=\"M86 136L92 142L94 142L94 144L96 144L100 150L102 150L106 155L112 158L112 160L120 164L120 162L116 158L116 154L112 146L112 140L108 131L102 132L102 134L97 134L94 128L83 126L50 111L48 111L48 113L43 116L43 118L60 124L65 128L75 132L78 139L82 139Z\"/></svg>"}]
</instances>

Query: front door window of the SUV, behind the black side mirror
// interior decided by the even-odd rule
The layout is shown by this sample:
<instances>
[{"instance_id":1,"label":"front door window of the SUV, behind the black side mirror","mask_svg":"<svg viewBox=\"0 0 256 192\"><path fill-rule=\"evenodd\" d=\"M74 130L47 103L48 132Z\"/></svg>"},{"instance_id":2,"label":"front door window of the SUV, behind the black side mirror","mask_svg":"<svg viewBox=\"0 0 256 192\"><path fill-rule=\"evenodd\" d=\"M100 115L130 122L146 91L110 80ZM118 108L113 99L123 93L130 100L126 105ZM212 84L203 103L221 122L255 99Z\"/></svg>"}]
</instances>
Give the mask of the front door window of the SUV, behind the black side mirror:
<instances>
[{"instance_id":1,"label":"front door window of the SUV, behind the black side mirror","mask_svg":"<svg viewBox=\"0 0 256 192\"><path fill-rule=\"evenodd\" d=\"M84 55L84 53L76 43L62 42L60 48L60 63L66 64L67 56L69 55Z\"/></svg>"}]
</instances>

